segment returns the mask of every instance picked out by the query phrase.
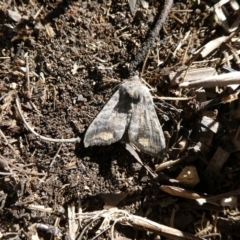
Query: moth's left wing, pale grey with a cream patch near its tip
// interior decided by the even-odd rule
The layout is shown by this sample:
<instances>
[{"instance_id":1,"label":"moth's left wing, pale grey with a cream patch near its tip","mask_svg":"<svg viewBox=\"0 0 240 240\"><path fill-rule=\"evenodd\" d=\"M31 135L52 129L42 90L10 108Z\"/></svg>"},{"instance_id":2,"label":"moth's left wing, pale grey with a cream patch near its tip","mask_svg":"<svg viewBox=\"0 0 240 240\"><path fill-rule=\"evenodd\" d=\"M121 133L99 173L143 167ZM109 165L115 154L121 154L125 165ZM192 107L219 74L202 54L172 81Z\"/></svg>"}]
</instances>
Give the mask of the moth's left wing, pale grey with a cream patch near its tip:
<instances>
[{"instance_id":1,"label":"moth's left wing, pale grey with a cream patch near its tip","mask_svg":"<svg viewBox=\"0 0 240 240\"><path fill-rule=\"evenodd\" d=\"M110 145L119 141L128 125L129 110L129 99L117 90L88 127L84 146Z\"/></svg>"}]
</instances>

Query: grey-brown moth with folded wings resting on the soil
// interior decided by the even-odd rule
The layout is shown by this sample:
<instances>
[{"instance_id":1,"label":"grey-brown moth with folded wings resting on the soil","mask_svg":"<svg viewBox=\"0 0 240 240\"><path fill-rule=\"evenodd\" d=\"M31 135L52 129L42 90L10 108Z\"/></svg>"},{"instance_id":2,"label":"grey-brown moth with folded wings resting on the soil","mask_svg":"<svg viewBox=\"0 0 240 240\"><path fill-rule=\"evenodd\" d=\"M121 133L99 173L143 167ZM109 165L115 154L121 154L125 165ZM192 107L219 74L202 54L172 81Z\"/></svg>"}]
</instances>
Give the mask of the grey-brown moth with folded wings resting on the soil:
<instances>
[{"instance_id":1,"label":"grey-brown moth with folded wings resting on the soil","mask_svg":"<svg viewBox=\"0 0 240 240\"><path fill-rule=\"evenodd\" d=\"M152 95L138 76L125 80L93 120L84 146L110 145L121 140L140 151L161 157L165 138Z\"/></svg>"}]
</instances>

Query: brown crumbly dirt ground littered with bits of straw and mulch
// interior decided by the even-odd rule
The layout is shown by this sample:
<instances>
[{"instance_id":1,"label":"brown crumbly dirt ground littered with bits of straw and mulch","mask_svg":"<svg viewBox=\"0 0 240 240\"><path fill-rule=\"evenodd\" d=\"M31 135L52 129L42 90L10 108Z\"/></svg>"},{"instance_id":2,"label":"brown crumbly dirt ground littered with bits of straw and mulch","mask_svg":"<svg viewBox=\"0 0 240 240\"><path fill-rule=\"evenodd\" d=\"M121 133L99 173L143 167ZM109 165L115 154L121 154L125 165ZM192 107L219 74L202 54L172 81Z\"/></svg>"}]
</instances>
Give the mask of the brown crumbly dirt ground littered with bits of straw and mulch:
<instances>
[{"instance_id":1,"label":"brown crumbly dirt ground littered with bits of straw and mulch","mask_svg":"<svg viewBox=\"0 0 240 240\"><path fill-rule=\"evenodd\" d=\"M85 148L83 139L128 77L126 66L141 50L164 1L137 1L134 14L125 0L0 1L0 239L110 239L110 228L101 228L103 218L91 222L79 214L111 207L198 239L239 239L238 88L179 88L169 77L182 69L211 67L223 73L226 54L235 54L227 65L239 70L238 40L207 57L196 54L211 40L229 35L215 21L214 2L175 1L136 69L152 89L167 143L164 159L133 150L142 165L120 142ZM201 92L206 101L200 101ZM23 123L16 99L41 136L81 141L42 141ZM202 128L207 114L217 130ZM211 160L225 155L216 169ZM157 168L175 160L171 167ZM198 174L190 184L177 178L186 167ZM219 197L223 193L229 194ZM199 204L195 194L217 197ZM234 203L222 204L224 197ZM119 223L114 234L115 239L162 235ZM188 239L171 234L161 239Z\"/></svg>"}]
</instances>

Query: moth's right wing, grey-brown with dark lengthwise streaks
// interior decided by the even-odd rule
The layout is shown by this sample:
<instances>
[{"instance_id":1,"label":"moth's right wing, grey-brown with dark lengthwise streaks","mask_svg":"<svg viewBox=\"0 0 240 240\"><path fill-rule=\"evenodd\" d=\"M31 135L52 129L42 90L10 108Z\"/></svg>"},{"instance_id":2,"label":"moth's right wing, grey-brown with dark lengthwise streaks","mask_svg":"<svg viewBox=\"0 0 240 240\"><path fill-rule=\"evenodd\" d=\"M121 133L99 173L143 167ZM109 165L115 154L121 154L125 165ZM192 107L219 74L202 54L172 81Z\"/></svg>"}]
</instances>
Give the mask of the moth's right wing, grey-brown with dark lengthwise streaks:
<instances>
[{"instance_id":1,"label":"moth's right wing, grey-brown with dark lengthwise streaks","mask_svg":"<svg viewBox=\"0 0 240 240\"><path fill-rule=\"evenodd\" d=\"M165 150L165 138L148 89L139 95L139 102L132 105L129 142L147 154L161 157Z\"/></svg>"}]
</instances>

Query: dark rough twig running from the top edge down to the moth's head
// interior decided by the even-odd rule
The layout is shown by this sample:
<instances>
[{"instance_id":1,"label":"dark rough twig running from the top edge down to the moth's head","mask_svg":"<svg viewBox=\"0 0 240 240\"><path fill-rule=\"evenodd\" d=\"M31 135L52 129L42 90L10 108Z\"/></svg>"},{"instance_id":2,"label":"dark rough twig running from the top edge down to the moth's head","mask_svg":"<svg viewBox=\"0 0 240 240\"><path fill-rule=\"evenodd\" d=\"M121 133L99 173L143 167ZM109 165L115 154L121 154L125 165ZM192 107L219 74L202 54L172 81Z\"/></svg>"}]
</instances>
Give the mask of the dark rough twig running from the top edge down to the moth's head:
<instances>
[{"instance_id":1,"label":"dark rough twig running from the top edge down to the moth's head","mask_svg":"<svg viewBox=\"0 0 240 240\"><path fill-rule=\"evenodd\" d=\"M132 70L135 70L135 68L144 60L148 50L152 46L153 41L158 36L163 23L166 21L166 18L172 7L172 4L173 0L165 0L164 8L161 14L159 15L159 18L156 22L154 29L150 32L148 38L143 43L142 50L138 52L138 54L135 56L135 59L130 63L130 72L132 72Z\"/></svg>"}]
</instances>

